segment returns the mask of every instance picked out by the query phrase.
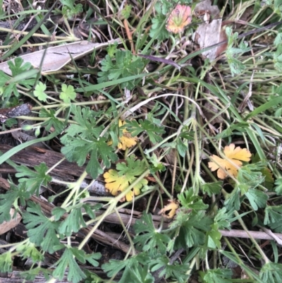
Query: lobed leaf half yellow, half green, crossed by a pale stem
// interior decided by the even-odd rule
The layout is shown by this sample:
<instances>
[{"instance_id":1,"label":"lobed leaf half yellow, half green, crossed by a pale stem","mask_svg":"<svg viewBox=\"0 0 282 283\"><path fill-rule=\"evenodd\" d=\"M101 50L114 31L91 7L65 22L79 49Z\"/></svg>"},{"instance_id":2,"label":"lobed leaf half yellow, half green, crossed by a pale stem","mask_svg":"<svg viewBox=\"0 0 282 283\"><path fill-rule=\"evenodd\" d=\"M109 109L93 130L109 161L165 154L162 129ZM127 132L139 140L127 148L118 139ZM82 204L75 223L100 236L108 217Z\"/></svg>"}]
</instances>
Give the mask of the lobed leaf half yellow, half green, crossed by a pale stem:
<instances>
[{"instance_id":1,"label":"lobed leaf half yellow, half green, crossed by a pale stem","mask_svg":"<svg viewBox=\"0 0 282 283\"><path fill-rule=\"evenodd\" d=\"M131 183L133 183L138 176L140 176L146 170L145 160L135 160L134 155L130 155L125 162L118 163L116 169L110 169L104 174L105 188L110 191L112 195L118 195L123 192ZM140 189L142 186L147 185L148 181L142 179L133 187L133 191L126 193L125 198L127 201L133 200L134 195L140 195Z\"/></svg>"}]
</instances>

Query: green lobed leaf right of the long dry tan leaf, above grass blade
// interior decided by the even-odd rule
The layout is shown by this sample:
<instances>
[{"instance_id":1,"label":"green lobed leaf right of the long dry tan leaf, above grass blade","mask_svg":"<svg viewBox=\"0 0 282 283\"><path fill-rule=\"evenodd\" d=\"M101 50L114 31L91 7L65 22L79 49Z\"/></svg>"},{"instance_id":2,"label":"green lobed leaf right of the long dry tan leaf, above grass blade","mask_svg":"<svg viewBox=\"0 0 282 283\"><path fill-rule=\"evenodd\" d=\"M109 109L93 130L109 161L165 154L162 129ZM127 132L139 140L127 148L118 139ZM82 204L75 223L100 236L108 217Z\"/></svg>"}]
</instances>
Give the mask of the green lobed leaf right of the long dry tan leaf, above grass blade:
<instances>
[{"instance_id":1,"label":"green lobed leaf right of the long dry tan leaf, above grass blade","mask_svg":"<svg viewBox=\"0 0 282 283\"><path fill-rule=\"evenodd\" d=\"M130 51L117 50L115 60L109 55L101 61L102 72L98 73L98 83L104 83L109 80L117 80L118 78L126 78L142 73L145 67L145 60L138 56L134 56ZM121 83L121 88L133 90L135 88L135 80Z\"/></svg>"}]
</instances>

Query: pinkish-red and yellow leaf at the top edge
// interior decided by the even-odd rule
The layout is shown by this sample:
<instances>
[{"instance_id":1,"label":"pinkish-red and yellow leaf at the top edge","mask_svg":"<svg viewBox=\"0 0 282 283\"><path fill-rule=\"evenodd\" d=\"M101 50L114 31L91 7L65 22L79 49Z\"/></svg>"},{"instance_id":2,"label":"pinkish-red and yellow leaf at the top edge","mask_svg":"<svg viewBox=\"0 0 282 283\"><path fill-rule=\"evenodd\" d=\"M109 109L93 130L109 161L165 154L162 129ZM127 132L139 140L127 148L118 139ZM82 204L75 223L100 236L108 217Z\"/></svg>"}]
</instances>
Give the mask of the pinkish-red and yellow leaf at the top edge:
<instances>
[{"instance_id":1,"label":"pinkish-red and yellow leaf at the top edge","mask_svg":"<svg viewBox=\"0 0 282 283\"><path fill-rule=\"evenodd\" d=\"M168 17L166 30L173 33L182 32L185 26L189 25L191 20L191 8L189 6L178 4Z\"/></svg>"}]
</instances>

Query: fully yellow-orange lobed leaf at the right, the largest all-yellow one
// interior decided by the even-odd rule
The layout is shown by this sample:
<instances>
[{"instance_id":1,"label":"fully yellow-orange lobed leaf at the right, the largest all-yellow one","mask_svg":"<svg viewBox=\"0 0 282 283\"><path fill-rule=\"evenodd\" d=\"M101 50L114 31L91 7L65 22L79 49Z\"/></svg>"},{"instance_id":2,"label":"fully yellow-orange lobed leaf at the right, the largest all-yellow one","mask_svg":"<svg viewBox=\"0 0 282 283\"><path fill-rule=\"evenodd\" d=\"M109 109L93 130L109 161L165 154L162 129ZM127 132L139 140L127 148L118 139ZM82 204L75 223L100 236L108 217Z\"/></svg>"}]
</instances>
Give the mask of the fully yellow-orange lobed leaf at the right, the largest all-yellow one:
<instances>
[{"instance_id":1,"label":"fully yellow-orange lobed leaf at the right, the largest all-yellow one","mask_svg":"<svg viewBox=\"0 0 282 283\"><path fill-rule=\"evenodd\" d=\"M213 162L209 162L209 168L212 171L217 170L219 179L224 179L226 176L237 176L238 169L242 167L242 161L249 162L251 152L247 148L235 147L233 143L224 147L224 155L226 159L222 159L216 155L212 155ZM227 174L228 173L228 174Z\"/></svg>"}]
</instances>

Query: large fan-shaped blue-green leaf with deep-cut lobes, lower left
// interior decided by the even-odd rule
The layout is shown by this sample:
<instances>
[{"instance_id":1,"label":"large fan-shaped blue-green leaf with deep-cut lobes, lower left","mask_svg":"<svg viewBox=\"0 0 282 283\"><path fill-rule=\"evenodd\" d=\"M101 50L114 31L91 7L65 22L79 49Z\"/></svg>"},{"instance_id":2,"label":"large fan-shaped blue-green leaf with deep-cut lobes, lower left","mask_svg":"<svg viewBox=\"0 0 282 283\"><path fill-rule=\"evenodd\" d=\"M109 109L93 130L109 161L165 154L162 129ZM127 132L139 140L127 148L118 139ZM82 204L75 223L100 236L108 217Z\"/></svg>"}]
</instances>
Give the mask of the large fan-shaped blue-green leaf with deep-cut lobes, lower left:
<instances>
[{"instance_id":1,"label":"large fan-shaped blue-green leaf with deep-cut lobes, lower left","mask_svg":"<svg viewBox=\"0 0 282 283\"><path fill-rule=\"evenodd\" d=\"M43 215L40 205L29 203L27 212L23 213L23 223L27 229L27 236L43 251L54 253L54 246L60 244L57 237L59 222L51 221Z\"/></svg>"}]
</instances>

